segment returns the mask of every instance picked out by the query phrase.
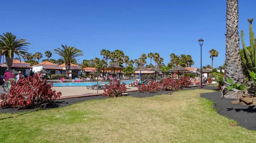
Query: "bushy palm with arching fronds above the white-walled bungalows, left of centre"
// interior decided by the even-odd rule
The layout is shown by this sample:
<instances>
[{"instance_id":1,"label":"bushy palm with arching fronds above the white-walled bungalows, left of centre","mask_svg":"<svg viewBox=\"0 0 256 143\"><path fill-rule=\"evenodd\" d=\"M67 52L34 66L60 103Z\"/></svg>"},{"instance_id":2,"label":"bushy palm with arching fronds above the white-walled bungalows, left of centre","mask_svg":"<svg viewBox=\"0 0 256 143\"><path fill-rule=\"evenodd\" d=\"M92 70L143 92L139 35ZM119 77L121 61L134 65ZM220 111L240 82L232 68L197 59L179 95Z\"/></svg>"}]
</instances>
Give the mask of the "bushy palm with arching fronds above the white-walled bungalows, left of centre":
<instances>
[{"instance_id":1,"label":"bushy palm with arching fronds above the white-walled bungalows, left of centre","mask_svg":"<svg viewBox=\"0 0 256 143\"><path fill-rule=\"evenodd\" d=\"M66 70L67 72L70 70L70 64L75 62L76 63L76 57L78 56L84 56L82 53L83 51L75 48L75 47L70 47L67 45L61 45L61 48L54 49L54 53L57 55L61 56L61 60L65 62Z\"/></svg>"}]
</instances>

